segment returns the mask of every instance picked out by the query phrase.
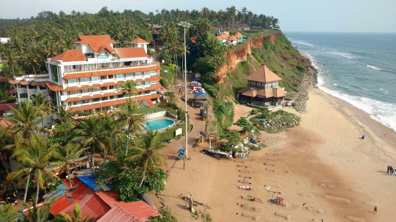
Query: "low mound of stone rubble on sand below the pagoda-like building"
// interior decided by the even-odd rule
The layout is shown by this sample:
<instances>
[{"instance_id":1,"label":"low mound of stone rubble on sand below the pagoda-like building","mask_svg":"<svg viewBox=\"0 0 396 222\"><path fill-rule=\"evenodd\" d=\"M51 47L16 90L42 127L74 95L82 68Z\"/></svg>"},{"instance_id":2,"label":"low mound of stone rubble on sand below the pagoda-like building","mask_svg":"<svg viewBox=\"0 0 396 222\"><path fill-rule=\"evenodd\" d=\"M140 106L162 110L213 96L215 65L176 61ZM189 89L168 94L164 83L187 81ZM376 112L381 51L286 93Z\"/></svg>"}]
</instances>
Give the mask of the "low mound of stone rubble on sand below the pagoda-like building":
<instances>
[{"instance_id":1,"label":"low mound of stone rubble on sand below the pagoda-like building","mask_svg":"<svg viewBox=\"0 0 396 222\"><path fill-rule=\"evenodd\" d=\"M265 130L276 130L278 128L291 128L297 126L300 122L301 117L299 115L293 115L291 117L282 118L282 115L276 115L271 119L256 119L257 123L261 125Z\"/></svg>"}]
</instances>

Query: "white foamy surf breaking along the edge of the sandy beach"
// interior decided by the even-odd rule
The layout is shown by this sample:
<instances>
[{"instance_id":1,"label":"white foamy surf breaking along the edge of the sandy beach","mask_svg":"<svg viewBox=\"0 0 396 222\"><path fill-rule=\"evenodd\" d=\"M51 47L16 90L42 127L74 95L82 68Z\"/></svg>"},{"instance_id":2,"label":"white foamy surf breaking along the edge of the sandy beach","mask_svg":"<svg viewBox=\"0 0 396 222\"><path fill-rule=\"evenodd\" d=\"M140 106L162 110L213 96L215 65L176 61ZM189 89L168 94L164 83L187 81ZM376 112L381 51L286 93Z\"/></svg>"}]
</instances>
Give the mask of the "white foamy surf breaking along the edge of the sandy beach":
<instances>
[{"instance_id":1,"label":"white foamy surf breaking along the edge of the sandy beach","mask_svg":"<svg viewBox=\"0 0 396 222\"><path fill-rule=\"evenodd\" d=\"M326 83L324 78L321 75L318 75L318 88L332 96L345 100L358 109L363 110L370 115L371 119L388 126L396 132L395 103L381 102L361 96L351 96L340 91L330 90L324 87L324 83Z\"/></svg>"}]
</instances>

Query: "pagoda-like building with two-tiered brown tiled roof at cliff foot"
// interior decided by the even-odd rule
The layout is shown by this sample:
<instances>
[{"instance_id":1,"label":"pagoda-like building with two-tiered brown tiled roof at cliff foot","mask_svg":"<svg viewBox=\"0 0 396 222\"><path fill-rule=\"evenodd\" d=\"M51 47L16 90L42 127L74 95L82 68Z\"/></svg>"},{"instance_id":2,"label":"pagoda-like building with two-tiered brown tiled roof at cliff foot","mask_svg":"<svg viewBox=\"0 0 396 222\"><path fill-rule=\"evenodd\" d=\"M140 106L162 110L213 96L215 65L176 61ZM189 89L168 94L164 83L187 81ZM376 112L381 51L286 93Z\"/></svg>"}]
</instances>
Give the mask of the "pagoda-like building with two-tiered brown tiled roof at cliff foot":
<instances>
[{"instance_id":1,"label":"pagoda-like building with two-tiered brown tiled roof at cliff foot","mask_svg":"<svg viewBox=\"0 0 396 222\"><path fill-rule=\"evenodd\" d=\"M285 103L286 91L279 87L282 79L266 65L245 79L247 86L239 90L237 95L240 103L266 106L267 109L278 109Z\"/></svg>"}]
</instances>

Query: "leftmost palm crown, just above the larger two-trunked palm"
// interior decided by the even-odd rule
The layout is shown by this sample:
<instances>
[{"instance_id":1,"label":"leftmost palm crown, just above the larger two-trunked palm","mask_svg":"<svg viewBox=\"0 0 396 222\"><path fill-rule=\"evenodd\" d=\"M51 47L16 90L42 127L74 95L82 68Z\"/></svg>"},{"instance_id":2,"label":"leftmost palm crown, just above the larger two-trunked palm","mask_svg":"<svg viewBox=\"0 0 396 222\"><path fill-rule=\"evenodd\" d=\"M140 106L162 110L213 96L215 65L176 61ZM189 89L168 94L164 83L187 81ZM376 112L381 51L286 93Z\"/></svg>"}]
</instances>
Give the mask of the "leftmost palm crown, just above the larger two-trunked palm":
<instances>
[{"instance_id":1,"label":"leftmost palm crown, just above the larger two-trunked palm","mask_svg":"<svg viewBox=\"0 0 396 222\"><path fill-rule=\"evenodd\" d=\"M35 132L49 133L49 130L38 126L42 119L48 117L40 117L40 109L42 107L38 108L28 100L21 101L16 108L10 106L10 112L13 113L13 116L4 116L4 119L14 123L14 125L10 126L10 129L14 131L14 137L22 137L29 140L30 136Z\"/></svg>"}]
</instances>

